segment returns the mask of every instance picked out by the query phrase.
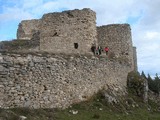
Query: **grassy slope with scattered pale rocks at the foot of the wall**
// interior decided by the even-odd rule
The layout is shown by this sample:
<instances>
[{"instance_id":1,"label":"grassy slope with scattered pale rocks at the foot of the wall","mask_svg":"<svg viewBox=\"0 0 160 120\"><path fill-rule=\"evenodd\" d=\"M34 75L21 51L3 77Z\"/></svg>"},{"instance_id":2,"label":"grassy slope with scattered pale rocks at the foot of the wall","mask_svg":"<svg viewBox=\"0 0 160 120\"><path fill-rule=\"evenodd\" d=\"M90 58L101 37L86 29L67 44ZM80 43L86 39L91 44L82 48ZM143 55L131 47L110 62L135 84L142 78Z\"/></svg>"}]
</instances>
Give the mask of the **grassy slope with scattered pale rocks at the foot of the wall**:
<instances>
[{"instance_id":1,"label":"grassy slope with scattered pale rocks at the foot of the wall","mask_svg":"<svg viewBox=\"0 0 160 120\"><path fill-rule=\"evenodd\" d=\"M101 96L93 97L90 101L75 104L65 110L56 109L0 109L0 120L18 120L19 116L26 116L26 120L160 120L158 105L150 101L151 108L144 104L138 97L132 96L133 104L126 104L126 99L119 104L108 104ZM136 107L137 106L137 107ZM72 114L77 110L78 114Z\"/></svg>"}]
</instances>

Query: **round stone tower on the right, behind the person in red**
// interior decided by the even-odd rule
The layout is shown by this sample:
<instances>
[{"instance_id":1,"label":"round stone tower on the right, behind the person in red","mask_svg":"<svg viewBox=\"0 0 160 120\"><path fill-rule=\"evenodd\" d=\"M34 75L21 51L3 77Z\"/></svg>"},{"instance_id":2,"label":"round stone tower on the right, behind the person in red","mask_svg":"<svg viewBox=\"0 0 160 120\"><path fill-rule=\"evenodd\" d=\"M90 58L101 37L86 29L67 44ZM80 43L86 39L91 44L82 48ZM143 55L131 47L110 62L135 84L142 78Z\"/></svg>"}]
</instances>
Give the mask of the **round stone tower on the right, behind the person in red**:
<instances>
[{"instance_id":1,"label":"round stone tower on the right, behind the person in red","mask_svg":"<svg viewBox=\"0 0 160 120\"><path fill-rule=\"evenodd\" d=\"M129 24L97 27L98 45L109 48L109 57L126 61L134 68L131 28Z\"/></svg>"}]
</instances>

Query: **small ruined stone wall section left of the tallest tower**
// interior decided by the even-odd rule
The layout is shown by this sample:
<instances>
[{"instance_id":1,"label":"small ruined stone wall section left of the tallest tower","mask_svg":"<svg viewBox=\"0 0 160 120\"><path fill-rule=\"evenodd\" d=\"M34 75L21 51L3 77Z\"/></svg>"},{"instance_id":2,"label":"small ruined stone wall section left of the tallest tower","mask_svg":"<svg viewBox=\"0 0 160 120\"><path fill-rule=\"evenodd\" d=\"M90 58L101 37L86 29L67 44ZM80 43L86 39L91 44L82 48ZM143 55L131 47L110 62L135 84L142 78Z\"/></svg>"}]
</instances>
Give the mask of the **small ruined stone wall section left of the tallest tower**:
<instances>
[{"instance_id":1,"label":"small ruined stone wall section left of the tallest tower","mask_svg":"<svg viewBox=\"0 0 160 120\"><path fill-rule=\"evenodd\" d=\"M31 40L33 34L39 30L41 20L23 20L17 29L17 39Z\"/></svg>"}]
</instances>

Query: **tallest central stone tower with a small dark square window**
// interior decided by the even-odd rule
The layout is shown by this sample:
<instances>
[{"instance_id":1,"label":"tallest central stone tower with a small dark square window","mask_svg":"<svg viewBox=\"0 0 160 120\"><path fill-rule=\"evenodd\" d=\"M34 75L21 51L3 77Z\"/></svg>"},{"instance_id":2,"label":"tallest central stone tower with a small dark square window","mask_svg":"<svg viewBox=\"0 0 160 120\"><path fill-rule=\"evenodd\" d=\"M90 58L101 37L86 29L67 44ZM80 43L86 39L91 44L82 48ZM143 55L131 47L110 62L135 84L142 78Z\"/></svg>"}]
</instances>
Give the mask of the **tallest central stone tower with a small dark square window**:
<instances>
[{"instance_id":1,"label":"tallest central stone tower with a small dark square window","mask_svg":"<svg viewBox=\"0 0 160 120\"><path fill-rule=\"evenodd\" d=\"M90 9L45 14L41 28L41 51L90 54L97 41L96 14Z\"/></svg>"}]
</instances>

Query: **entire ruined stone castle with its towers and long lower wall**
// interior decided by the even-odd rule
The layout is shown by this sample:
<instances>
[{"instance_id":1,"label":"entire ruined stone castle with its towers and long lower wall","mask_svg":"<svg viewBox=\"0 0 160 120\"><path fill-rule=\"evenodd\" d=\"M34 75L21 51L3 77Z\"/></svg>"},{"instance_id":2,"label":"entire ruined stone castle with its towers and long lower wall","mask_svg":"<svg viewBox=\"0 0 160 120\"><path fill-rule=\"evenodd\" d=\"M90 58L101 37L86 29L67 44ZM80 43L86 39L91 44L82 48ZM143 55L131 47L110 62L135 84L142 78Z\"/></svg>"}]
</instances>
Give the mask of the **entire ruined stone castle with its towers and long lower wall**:
<instances>
[{"instance_id":1,"label":"entire ruined stone castle with its towers and long lower wall","mask_svg":"<svg viewBox=\"0 0 160 120\"><path fill-rule=\"evenodd\" d=\"M94 55L93 46L108 47L108 55ZM104 87L122 89L137 70L129 24L97 27L86 8L24 20L17 40L1 42L0 51L3 108L65 108Z\"/></svg>"}]
</instances>

